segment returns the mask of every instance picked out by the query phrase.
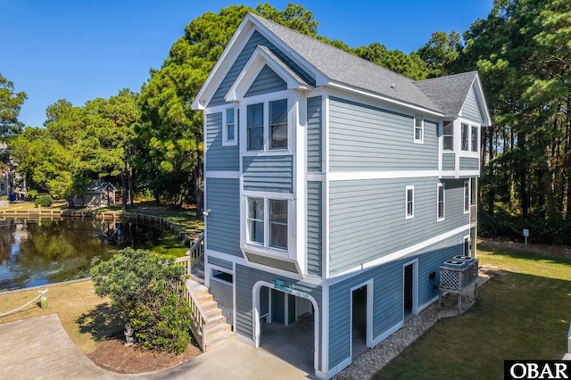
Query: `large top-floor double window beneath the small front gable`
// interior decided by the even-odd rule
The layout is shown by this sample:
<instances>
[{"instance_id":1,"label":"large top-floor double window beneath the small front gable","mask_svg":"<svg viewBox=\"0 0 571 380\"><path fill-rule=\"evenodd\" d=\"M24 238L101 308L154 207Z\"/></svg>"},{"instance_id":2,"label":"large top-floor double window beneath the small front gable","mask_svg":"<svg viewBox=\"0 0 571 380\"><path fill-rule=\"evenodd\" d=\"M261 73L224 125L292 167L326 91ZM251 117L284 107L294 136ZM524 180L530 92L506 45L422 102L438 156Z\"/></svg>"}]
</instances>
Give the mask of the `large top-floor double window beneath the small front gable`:
<instances>
[{"instance_id":1,"label":"large top-floor double window beneath the small front gable","mask_svg":"<svg viewBox=\"0 0 571 380\"><path fill-rule=\"evenodd\" d=\"M287 149L287 99L248 105L246 120L249 151L263 151L266 139L269 150Z\"/></svg>"}]
</instances>

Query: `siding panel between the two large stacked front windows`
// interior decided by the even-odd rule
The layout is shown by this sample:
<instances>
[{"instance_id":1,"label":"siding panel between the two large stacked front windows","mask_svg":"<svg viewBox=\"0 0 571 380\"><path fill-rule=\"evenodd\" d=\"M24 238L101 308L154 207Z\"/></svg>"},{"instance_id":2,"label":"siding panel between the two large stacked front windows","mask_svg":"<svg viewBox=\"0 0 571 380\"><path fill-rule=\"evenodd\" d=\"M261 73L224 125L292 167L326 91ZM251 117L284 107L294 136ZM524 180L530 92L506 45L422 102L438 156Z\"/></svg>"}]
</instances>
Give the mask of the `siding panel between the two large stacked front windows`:
<instances>
[{"instance_id":1,"label":"siding panel between the two large stacked front windows","mask_svg":"<svg viewBox=\"0 0 571 380\"><path fill-rule=\"evenodd\" d=\"M292 193L293 158L284 156L244 157L244 190Z\"/></svg>"}]
</instances>

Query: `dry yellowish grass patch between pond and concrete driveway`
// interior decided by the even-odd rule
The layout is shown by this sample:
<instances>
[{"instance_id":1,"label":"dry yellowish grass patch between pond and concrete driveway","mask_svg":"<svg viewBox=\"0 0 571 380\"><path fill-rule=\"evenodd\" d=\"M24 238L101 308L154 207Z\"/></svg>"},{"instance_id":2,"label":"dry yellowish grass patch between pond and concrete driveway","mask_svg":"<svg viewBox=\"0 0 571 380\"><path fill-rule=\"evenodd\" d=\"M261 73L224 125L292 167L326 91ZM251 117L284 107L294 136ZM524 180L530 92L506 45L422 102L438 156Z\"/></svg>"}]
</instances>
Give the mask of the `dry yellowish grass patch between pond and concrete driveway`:
<instances>
[{"instance_id":1,"label":"dry yellowish grass patch between pond and concrete driveway","mask_svg":"<svg viewBox=\"0 0 571 380\"><path fill-rule=\"evenodd\" d=\"M9 316L0 317L0 324L55 313L70 339L84 353L94 351L103 339L122 334L119 313L108 298L95 294L92 281L46 287L47 309L41 309L37 300ZM37 294L37 289L0 293L0 314L20 307Z\"/></svg>"}]
</instances>

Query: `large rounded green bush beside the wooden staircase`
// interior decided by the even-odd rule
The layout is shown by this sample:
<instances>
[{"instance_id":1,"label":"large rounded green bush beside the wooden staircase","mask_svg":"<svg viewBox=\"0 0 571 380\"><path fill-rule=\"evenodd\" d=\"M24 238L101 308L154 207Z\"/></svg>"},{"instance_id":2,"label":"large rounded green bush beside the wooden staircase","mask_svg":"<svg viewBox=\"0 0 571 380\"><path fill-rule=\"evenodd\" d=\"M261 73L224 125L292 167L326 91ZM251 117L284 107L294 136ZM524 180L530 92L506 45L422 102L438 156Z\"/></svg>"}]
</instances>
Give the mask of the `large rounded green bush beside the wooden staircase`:
<instances>
[{"instance_id":1,"label":"large rounded green bush beside the wooden staircase","mask_svg":"<svg viewBox=\"0 0 571 380\"><path fill-rule=\"evenodd\" d=\"M91 269L95 293L109 296L145 350L181 353L191 340L186 269L174 259L126 248Z\"/></svg>"}]
</instances>

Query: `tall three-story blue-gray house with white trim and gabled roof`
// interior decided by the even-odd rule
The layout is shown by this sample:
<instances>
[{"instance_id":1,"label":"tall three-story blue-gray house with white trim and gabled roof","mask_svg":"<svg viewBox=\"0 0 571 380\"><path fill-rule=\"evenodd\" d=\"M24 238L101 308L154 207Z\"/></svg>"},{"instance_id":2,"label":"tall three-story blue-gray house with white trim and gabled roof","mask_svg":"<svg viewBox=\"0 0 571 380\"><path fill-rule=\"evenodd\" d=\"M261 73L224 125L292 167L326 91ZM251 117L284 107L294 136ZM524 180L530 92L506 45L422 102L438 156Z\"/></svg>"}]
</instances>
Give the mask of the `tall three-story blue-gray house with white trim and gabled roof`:
<instances>
[{"instance_id":1,"label":"tall three-story blue-gray house with white trim and gabled roof","mask_svg":"<svg viewBox=\"0 0 571 380\"><path fill-rule=\"evenodd\" d=\"M475 254L476 71L413 81L247 14L193 108L205 285L238 339L309 322L330 378L438 299L445 260Z\"/></svg>"}]
</instances>

